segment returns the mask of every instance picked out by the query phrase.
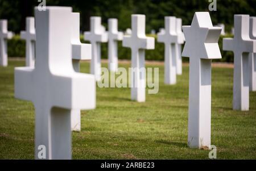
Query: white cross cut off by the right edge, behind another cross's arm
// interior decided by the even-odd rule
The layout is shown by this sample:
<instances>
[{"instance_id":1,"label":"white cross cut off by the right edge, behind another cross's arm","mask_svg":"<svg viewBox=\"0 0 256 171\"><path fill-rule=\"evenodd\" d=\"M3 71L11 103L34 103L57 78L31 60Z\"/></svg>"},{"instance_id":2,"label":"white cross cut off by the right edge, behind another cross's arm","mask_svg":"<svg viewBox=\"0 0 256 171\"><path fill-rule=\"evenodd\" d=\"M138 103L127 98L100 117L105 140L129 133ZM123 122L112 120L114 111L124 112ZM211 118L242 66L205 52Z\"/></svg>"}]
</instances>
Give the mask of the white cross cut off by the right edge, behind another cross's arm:
<instances>
[{"instance_id":1,"label":"white cross cut off by the right edge, behind another cross's arm","mask_svg":"<svg viewBox=\"0 0 256 171\"><path fill-rule=\"evenodd\" d=\"M256 40L256 17L250 17L250 38ZM249 55L249 89L256 91L256 53Z\"/></svg>"}]
</instances>

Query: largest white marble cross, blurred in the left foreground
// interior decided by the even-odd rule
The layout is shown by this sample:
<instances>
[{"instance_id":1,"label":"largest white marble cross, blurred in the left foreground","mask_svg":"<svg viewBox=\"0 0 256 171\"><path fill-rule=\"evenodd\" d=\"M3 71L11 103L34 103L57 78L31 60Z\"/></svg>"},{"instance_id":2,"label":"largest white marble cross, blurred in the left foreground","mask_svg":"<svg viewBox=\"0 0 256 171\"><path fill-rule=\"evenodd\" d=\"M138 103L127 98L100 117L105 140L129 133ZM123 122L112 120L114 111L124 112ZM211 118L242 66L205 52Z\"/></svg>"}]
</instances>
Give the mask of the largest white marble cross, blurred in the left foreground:
<instances>
[{"instance_id":1,"label":"largest white marble cross, blurred in the left foreground","mask_svg":"<svg viewBox=\"0 0 256 171\"><path fill-rule=\"evenodd\" d=\"M15 97L35 106L36 159L44 159L42 149L46 159L71 159L71 111L96 103L94 76L72 66L71 12L71 7L35 7L35 68L15 68Z\"/></svg>"}]
</instances>

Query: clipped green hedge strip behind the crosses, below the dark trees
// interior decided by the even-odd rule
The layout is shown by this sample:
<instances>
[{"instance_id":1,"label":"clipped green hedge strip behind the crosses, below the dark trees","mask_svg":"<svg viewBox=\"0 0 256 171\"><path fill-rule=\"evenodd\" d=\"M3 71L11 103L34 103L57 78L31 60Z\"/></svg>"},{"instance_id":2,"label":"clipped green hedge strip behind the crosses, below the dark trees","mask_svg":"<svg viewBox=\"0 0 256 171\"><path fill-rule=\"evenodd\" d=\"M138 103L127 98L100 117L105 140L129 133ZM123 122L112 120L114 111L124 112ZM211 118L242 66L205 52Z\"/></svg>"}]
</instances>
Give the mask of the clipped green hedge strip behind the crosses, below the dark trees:
<instances>
[{"instance_id":1,"label":"clipped green hedge strip behind the crosses, below the dark trees","mask_svg":"<svg viewBox=\"0 0 256 171\"><path fill-rule=\"evenodd\" d=\"M152 37L155 37L155 35L149 35ZM220 37L220 40L218 41L222 59L220 60L214 60L214 61L222 61L222 62L233 62L233 53L232 52L226 52L222 51L222 39L224 36ZM227 35L225 37L231 37L231 35ZM88 43L83 40L83 37L81 36L81 42L82 43ZM25 56L25 41L20 40L19 35L15 35L13 39L8 40L8 55L10 57L24 57ZM102 59L108 58L108 43L102 43L101 45L101 54ZM155 49L154 50L147 50L146 51L146 60L156 60L156 61L163 61L164 60L164 44L158 43L155 39ZM122 47L122 42L118 42L118 59L131 59L131 50L130 48L124 48ZM183 61L188 61L188 58L183 57Z\"/></svg>"}]
</instances>

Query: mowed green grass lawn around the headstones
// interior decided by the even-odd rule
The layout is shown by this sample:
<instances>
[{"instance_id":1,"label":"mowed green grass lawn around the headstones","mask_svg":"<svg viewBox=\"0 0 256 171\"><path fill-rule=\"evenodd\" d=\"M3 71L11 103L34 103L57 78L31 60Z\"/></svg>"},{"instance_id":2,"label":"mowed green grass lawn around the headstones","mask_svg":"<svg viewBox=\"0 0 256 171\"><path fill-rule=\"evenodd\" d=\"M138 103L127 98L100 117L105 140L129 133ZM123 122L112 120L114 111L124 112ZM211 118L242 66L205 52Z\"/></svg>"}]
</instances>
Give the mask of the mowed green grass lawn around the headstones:
<instances>
[{"instance_id":1,"label":"mowed green grass lawn around the headstones","mask_svg":"<svg viewBox=\"0 0 256 171\"><path fill-rule=\"evenodd\" d=\"M14 66L24 61L0 67L0 159L34 159L34 106L14 98ZM159 93L144 103L131 101L129 88L97 87L97 108L82 111L81 132L73 132L73 159L209 159L209 150L187 146L188 66L173 86L154 67ZM232 86L232 68L212 69L212 144L217 159L256 159L256 93L250 111L233 111Z\"/></svg>"}]
</instances>

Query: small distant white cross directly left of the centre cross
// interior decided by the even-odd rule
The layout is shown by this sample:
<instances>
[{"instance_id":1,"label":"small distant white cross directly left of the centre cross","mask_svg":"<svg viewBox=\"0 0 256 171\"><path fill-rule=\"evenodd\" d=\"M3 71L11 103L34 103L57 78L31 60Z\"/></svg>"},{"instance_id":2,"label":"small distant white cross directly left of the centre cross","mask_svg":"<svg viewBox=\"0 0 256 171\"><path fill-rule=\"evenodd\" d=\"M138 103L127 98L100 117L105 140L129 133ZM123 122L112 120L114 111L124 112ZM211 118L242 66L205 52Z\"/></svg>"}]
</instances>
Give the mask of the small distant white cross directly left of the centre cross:
<instances>
[{"instance_id":1,"label":"small distant white cross directly left of the centre cross","mask_svg":"<svg viewBox=\"0 0 256 171\"><path fill-rule=\"evenodd\" d=\"M109 70L112 72L117 72L118 69L118 49L117 41L123 39L123 33L118 31L117 19L110 18L108 20L108 57L109 57Z\"/></svg>"}]
</instances>

